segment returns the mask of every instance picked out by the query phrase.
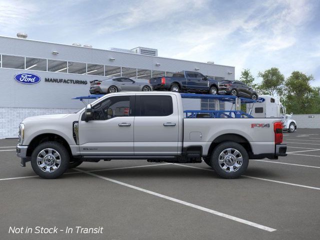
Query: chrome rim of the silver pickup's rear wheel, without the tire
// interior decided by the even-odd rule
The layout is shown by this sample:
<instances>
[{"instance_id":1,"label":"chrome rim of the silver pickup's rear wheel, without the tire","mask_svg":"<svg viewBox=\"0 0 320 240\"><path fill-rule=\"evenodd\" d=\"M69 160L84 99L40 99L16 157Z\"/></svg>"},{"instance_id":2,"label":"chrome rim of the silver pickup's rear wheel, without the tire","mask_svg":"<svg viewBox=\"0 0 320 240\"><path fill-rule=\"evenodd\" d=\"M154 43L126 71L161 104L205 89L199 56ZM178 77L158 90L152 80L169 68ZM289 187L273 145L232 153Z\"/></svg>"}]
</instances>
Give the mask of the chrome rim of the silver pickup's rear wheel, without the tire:
<instances>
[{"instance_id":1,"label":"chrome rim of the silver pickup's rear wheel, without the tire","mask_svg":"<svg viewBox=\"0 0 320 240\"><path fill-rule=\"evenodd\" d=\"M237 171L242 165L242 155L234 148L226 148L219 154L219 166L226 172Z\"/></svg>"}]
</instances>

